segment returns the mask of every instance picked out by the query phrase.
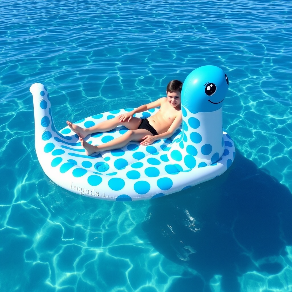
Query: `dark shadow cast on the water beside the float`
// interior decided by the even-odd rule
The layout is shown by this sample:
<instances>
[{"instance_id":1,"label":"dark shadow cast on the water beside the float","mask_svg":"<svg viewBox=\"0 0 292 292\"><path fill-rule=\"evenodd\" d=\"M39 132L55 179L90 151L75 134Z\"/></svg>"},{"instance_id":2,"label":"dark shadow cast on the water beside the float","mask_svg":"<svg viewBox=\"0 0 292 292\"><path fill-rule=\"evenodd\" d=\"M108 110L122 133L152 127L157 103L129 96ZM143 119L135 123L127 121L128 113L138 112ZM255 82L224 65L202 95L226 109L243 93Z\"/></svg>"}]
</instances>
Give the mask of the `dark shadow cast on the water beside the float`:
<instances>
[{"instance_id":1,"label":"dark shadow cast on the water beside the float","mask_svg":"<svg viewBox=\"0 0 292 292\"><path fill-rule=\"evenodd\" d=\"M291 210L288 188L237 150L222 176L153 200L142 227L160 253L188 267L168 292L211 291L216 279L220 291L236 292L247 272L284 269L275 259L292 245Z\"/></svg>"}]
</instances>

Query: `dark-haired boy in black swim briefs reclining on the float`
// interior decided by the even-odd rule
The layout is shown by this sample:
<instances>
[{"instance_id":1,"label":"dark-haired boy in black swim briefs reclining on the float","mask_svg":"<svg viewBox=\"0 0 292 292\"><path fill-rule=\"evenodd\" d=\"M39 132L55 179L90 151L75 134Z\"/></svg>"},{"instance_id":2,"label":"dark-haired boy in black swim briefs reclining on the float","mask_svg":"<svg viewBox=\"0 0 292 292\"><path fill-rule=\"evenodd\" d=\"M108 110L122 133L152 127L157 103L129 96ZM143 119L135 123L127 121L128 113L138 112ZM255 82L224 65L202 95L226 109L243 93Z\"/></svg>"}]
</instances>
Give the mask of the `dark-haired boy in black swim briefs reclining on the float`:
<instances>
[{"instance_id":1,"label":"dark-haired boy in black swim briefs reclining on the float","mask_svg":"<svg viewBox=\"0 0 292 292\"><path fill-rule=\"evenodd\" d=\"M131 112L103 121L90 128L81 128L69 121L67 121L67 125L79 136L81 145L84 147L87 155L105 150L119 149L130 141L140 142L140 145L144 146L150 145L155 140L171 137L182 123L180 106L182 86L183 83L181 81L172 80L168 83L166 88L167 97L162 97L154 102L141 105ZM144 112L155 107L160 107L160 109L147 119L133 117L135 113ZM121 135L121 137L98 146L91 145L84 141L84 138L89 134L107 132L117 126L125 126L129 131Z\"/></svg>"}]
</instances>

